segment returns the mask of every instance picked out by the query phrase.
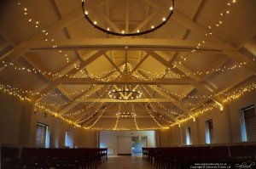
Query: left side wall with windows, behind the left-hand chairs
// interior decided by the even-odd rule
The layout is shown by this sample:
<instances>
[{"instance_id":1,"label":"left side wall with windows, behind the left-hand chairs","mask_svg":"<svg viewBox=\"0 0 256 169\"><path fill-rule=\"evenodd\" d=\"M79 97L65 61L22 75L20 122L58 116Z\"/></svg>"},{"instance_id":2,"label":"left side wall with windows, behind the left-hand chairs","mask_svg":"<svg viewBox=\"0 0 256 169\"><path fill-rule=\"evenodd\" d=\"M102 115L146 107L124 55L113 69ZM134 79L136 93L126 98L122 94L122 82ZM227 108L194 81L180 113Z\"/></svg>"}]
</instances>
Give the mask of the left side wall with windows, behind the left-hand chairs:
<instances>
[{"instance_id":1,"label":"left side wall with windows, behind the left-hand chairs","mask_svg":"<svg viewBox=\"0 0 256 169\"><path fill-rule=\"evenodd\" d=\"M96 131L75 128L52 115L43 117L31 103L0 93L0 144L35 147L37 122L49 126L50 147L65 147L65 133L73 132L75 147L97 147Z\"/></svg>"}]
</instances>

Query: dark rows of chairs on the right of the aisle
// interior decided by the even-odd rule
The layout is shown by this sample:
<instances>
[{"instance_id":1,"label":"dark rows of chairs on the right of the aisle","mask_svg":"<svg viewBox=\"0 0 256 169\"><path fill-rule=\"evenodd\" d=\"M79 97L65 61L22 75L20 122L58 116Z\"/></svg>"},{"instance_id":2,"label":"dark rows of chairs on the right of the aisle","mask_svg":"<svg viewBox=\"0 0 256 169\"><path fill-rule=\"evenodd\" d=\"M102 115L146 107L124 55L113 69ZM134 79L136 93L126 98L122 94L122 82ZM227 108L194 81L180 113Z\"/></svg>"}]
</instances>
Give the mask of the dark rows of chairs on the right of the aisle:
<instances>
[{"instance_id":1,"label":"dark rows of chairs on the right of the aisle","mask_svg":"<svg viewBox=\"0 0 256 169\"><path fill-rule=\"evenodd\" d=\"M256 161L256 144L143 148L143 158L160 169L185 168L195 162Z\"/></svg>"}]
</instances>

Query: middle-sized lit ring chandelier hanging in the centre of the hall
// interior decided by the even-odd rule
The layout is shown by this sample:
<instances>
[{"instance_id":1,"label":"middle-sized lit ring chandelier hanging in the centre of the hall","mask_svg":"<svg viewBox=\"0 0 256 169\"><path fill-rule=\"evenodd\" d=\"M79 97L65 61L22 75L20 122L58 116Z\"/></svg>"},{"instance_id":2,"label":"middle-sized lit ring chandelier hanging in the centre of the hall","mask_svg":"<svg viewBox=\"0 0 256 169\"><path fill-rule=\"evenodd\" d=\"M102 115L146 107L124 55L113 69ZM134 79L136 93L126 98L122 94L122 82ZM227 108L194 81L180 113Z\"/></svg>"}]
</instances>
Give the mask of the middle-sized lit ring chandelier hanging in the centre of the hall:
<instances>
[{"instance_id":1,"label":"middle-sized lit ring chandelier hanging in the centre of the hall","mask_svg":"<svg viewBox=\"0 0 256 169\"><path fill-rule=\"evenodd\" d=\"M119 100L131 100L131 99L140 99L142 98L142 94L137 90L137 87L133 89L129 89L126 85L112 91L109 91L108 96L111 99L119 99Z\"/></svg>"}]
</instances>

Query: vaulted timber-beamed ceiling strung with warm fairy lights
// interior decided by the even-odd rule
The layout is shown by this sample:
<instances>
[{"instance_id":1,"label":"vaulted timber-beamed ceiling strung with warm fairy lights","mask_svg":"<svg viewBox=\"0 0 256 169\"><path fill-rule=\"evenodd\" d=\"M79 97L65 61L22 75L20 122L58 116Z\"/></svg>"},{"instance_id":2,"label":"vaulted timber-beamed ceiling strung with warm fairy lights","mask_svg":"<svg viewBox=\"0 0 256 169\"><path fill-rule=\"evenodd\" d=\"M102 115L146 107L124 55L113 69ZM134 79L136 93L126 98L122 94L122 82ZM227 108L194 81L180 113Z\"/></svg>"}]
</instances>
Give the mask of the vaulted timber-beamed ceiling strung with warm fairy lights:
<instances>
[{"instance_id":1,"label":"vaulted timber-beamed ceiling strung with warm fairy lights","mask_svg":"<svg viewBox=\"0 0 256 169\"><path fill-rule=\"evenodd\" d=\"M98 22L133 32L168 13L169 3L87 4ZM1 88L88 129L181 124L224 106L236 89L255 87L255 8L253 0L176 0L172 18L157 31L118 37L90 25L79 0L1 2ZM142 98L108 96L121 87ZM119 118L121 112L136 116Z\"/></svg>"}]
</instances>

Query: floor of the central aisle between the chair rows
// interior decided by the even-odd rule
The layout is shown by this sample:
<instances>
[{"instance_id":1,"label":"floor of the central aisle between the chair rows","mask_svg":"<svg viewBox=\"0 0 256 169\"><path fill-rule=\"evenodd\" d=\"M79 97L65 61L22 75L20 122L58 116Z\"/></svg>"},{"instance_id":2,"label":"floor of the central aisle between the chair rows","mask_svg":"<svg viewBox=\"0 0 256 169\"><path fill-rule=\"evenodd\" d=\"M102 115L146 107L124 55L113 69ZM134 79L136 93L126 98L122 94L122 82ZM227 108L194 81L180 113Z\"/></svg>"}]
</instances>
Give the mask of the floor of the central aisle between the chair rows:
<instances>
[{"instance_id":1,"label":"floor of the central aisle between the chair rows","mask_svg":"<svg viewBox=\"0 0 256 169\"><path fill-rule=\"evenodd\" d=\"M155 169L143 155L108 155L108 161L102 163L97 169Z\"/></svg>"}]
</instances>

